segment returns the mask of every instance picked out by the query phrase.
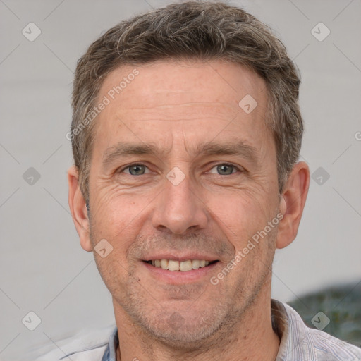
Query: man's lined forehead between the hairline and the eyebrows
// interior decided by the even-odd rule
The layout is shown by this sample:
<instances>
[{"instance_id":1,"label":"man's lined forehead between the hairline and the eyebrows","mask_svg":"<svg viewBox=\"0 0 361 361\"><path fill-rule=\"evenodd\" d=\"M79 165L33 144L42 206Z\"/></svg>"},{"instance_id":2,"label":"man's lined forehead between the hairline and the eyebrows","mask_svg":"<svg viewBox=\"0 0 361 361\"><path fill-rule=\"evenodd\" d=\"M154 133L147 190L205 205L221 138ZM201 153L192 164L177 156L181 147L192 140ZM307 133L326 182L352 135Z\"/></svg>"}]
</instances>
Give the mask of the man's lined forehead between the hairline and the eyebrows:
<instances>
[{"instance_id":1,"label":"man's lined forehead between the hairline and the eyebrows","mask_svg":"<svg viewBox=\"0 0 361 361\"><path fill-rule=\"evenodd\" d=\"M257 143L268 132L264 80L224 61L121 66L104 80L98 101L102 99L107 105L97 116L94 141L102 153L129 139L159 138L170 148L178 138L204 142L217 134L221 139L239 133ZM248 112L250 107L255 109Z\"/></svg>"}]
</instances>

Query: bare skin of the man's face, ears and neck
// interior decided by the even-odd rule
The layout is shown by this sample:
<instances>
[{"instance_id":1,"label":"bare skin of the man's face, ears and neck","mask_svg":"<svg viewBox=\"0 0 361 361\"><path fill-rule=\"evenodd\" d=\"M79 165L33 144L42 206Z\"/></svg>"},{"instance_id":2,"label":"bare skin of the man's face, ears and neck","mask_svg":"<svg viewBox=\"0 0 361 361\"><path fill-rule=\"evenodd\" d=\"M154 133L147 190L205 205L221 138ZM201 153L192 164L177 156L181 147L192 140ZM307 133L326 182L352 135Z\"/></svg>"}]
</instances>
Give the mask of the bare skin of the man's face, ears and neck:
<instances>
[{"instance_id":1,"label":"bare skin of the man's face, ears and neck","mask_svg":"<svg viewBox=\"0 0 361 361\"><path fill-rule=\"evenodd\" d=\"M99 99L134 68L109 74ZM68 171L82 247L94 251L103 239L113 247L94 258L113 298L118 360L275 360L271 265L276 247L286 247L297 234L310 182L307 164L295 164L279 195L265 82L247 68L223 61L158 61L136 68L139 75L95 120L89 214L78 172L74 166ZM247 94L257 101L250 114L238 106ZM243 142L252 152L199 152L207 142ZM104 164L118 143L159 149L116 154ZM144 165L144 173L132 175L132 164ZM222 164L233 168L224 173L217 168ZM174 167L181 170L176 180L185 176L178 185L166 178ZM212 284L210 278L277 214L283 217L278 225ZM219 262L193 281L171 281L143 262L161 252Z\"/></svg>"}]
</instances>

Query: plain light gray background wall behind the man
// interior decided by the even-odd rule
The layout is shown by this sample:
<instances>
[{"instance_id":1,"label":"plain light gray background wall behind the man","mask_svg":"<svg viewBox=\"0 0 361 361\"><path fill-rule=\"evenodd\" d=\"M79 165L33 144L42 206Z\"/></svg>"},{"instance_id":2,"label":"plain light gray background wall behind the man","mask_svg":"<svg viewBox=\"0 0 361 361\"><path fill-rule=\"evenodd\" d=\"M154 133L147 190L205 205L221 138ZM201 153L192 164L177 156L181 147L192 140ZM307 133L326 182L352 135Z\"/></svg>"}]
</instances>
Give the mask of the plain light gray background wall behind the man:
<instances>
[{"instance_id":1,"label":"plain light gray background wall behind the man","mask_svg":"<svg viewBox=\"0 0 361 361\"><path fill-rule=\"evenodd\" d=\"M25 360L26 348L54 346L75 332L114 322L109 292L92 254L80 247L68 210L72 155L65 135L73 71L109 27L169 3L0 0L1 360ZM301 159L311 173L322 167L329 174L328 180L314 175L298 237L276 253L272 296L288 301L333 283L356 286L361 280L361 1L228 3L270 25L298 64L306 128ZM22 34L30 22L41 30L32 42ZM331 31L322 42L312 35L319 22ZM314 31L326 34L322 27ZM40 175L33 184L25 173L30 167ZM34 331L22 323L30 311L41 319Z\"/></svg>"}]
</instances>

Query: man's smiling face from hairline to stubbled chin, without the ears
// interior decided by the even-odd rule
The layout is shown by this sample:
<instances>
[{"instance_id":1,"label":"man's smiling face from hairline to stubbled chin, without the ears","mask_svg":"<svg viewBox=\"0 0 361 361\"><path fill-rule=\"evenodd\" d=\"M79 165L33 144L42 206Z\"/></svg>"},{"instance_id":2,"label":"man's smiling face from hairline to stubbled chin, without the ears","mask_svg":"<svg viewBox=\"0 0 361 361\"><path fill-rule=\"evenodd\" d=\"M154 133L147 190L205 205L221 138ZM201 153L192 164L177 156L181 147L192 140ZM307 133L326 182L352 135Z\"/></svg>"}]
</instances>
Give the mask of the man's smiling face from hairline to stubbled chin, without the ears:
<instances>
[{"instance_id":1,"label":"man's smiling face from hairline to stubbled chin, without the ears","mask_svg":"<svg viewBox=\"0 0 361 361\"><path fill-rule=\"evenodd\" d=\"M280 202L267 92L221 61L136 69L116 69L99 92L110 102L94 123L90 240L113 247L94 257L118 317L190 345L269 287Z\"/></svg>"}]
</instances>

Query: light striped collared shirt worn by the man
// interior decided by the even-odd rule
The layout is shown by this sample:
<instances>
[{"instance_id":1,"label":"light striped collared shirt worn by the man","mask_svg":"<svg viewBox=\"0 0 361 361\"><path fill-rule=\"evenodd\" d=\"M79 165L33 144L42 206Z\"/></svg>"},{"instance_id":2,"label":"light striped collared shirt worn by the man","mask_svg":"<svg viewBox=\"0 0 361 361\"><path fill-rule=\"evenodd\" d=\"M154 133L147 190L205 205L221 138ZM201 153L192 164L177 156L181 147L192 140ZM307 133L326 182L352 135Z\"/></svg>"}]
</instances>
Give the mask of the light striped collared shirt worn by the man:
<instances>
[{"instance_id":1,"label":"light striped collared shirt worn by the man","mask_svg":"<svg viewBox=\"0 0 361 361\"><path fill-rule=\"evenodd\" d=\"M271 300L272 326L279 335L281 343L276 361L361 361L361 348L339 340L323 331L310 329L292 307L277 300ZM87 339L78 350L68 350L63 345L61 357L51 354L37 361L116 361L118 329L111 330L109 341ZM64 355L65 353L65 355ZM58 350L59 355L59 350ZM69 358L68 358L69 357Z\"/></svg>"}]
</instances>

